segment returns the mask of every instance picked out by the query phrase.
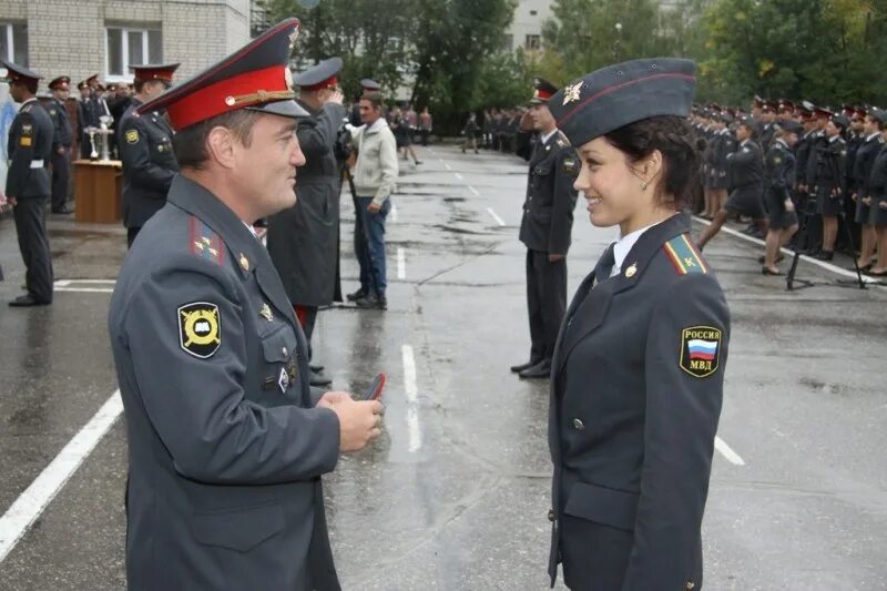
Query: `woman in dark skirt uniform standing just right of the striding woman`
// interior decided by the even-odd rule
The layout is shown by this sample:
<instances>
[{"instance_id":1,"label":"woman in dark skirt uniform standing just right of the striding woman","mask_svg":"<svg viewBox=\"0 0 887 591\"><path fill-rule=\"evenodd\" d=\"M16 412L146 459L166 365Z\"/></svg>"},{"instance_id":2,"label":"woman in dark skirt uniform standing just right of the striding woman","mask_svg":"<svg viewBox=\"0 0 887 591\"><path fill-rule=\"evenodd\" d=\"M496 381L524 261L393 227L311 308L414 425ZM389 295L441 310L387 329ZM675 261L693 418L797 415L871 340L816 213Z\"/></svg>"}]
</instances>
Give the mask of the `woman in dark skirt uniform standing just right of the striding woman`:
<instances>
[{"instance_id":1,"label":"woman in dark skirt uniform standing just right of the striding woman","mask_svg":"<svg viewBox=\"0 0 887 591\"><path fill-rule=\"evenodd\" d=\"M764 200L767 204L767 238L761 273L782 275L776 268L779 248L795 232L798 220L792 191L795 186L795 154L792 147L804 129L801 123L784 120L776 123L776 133L764 161Z\"/></svg>"}]
</instances>

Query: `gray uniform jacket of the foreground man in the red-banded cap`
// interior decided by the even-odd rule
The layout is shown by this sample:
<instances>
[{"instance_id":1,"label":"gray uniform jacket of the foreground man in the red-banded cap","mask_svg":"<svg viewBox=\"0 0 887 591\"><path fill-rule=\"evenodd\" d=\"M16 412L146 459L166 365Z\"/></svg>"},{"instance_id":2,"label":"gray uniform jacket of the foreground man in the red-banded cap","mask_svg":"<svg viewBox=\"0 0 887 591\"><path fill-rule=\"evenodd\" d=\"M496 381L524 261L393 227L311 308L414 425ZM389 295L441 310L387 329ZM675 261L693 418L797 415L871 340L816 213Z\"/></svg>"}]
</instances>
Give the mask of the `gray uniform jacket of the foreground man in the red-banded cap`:
<instances>
[{"instance_id":1,"label":"gray uniform jacket of the foreground man in the red-banded cap","mask_svg":"<svg viewBox=\"0 0 887 591\"><path fill-rule=\"evenodd\" d=\"M271 258L176 176L118 278L109 330L129 440L129 589L339 589L320 475L335 414Z\"/></svg>"}]
</instances>

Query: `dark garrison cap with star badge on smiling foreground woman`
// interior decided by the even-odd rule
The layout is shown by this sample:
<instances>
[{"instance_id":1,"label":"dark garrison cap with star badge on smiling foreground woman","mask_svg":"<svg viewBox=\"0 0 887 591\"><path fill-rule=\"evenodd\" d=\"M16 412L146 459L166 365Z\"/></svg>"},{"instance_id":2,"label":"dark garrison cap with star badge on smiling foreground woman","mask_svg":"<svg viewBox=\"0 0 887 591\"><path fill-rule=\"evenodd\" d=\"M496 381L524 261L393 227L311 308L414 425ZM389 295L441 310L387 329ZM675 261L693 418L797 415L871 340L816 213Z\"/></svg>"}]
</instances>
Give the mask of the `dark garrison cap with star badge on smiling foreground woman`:
<instances>
[{"instance_id":1,"label":"dark garrison cap with star badge on smiling foreground woman","mask_svg":"<svg viewBox=\"0 0 887 591\"><path fill-rule=\"evenodd\" d=\"M585 74L549 101L570 143L579 146L629 123L660 115L687 116L696 90L691 60L655 58Z\"/></svg>"}]
</instances>

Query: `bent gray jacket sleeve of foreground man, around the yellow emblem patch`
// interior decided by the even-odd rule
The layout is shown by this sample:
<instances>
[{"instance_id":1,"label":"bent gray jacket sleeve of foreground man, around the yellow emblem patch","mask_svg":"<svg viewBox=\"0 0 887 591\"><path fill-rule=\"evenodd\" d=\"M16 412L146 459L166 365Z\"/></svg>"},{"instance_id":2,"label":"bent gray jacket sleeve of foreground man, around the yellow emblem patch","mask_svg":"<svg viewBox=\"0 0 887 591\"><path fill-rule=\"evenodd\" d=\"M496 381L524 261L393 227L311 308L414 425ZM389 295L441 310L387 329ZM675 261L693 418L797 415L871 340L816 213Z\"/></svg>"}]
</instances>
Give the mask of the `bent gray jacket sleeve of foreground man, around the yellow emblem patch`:
<instances>
[{"instance_id":1,"label":"bent gray jacket sleeve of foreground man, around the yellow emblem patch","mask_svg":"<svg viewBox=\"0 0 887 591\"><path fill-rule=\"evenodd\" d=\"M266 408L244 397L247 303L222 267L190 255L154 272L126 306L123 332L141 401L184 477L216 485L308 480L338 460L339 422L329 409ZM198 358L180 342L179 308L218 308L217 350Z\"/></svg>"}]
</instances>

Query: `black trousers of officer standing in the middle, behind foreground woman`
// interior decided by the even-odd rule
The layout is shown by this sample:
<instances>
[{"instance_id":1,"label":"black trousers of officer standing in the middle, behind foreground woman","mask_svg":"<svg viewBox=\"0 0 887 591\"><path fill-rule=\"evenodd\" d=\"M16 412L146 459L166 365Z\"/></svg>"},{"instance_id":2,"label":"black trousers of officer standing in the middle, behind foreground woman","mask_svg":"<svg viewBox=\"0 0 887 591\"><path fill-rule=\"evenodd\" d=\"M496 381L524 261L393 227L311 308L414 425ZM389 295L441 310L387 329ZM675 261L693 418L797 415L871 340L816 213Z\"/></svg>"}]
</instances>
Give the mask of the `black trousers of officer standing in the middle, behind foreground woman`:
<instances>
[{"instance_id":1,"label":"black trousers of officer standing in the middle, behind foreground woman","mask_svg":"<svg viewBox=\"0 0 887 591\"><path fill-rule=\"evenodd\" d=\"M527 251L527 310L530 315L530 360L551 360L567 313L567 259L555 263L548 253Z\"/></svg>"}]
</instances>

